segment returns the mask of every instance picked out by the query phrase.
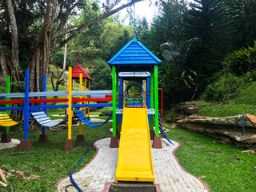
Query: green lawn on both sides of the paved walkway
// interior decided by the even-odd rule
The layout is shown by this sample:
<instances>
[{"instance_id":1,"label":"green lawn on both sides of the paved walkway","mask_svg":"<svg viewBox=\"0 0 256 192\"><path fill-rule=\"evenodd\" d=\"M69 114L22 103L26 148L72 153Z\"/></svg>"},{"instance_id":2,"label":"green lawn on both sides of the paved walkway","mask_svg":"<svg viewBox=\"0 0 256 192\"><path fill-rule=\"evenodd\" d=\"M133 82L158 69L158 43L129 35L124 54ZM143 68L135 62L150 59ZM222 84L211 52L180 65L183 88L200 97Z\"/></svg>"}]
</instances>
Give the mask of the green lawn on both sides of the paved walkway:
<instances>
[{"instance_id":1,"label":"green lawn on both sides of the paved walkway","mask_svg":"<svg viewBox=\"0 0 256 192\"><path fill-rule=\"evenodd\" d=\"M17 148L0 150L0 165L7 170L18 170L26 173L27 176L35 175L34 179L23 179L16 174L7 179L14 186L14 191L54 191L56 183L60 178L69 175L70 170L78 163L79 158L86 151L86 146L94 139L106 134L106 127L110 123L99 128L84 126L83 134L86 142L76 143L76 148L64 151L64 144L67 138L67 130L54 132L47 130L50 141L39 143L39 130L30 130L29 137L32 142L32 150L18 150ZM181 143L181 147L175 154L181 165L196 177L203 177L211 191L246 191L253 192L256 189L254 178L256 177L256 155L242 153L242 149L229 144L221 144L213 138L203 134L170 128L168 136ZM75 139L78 134L78 127L73 126L72 137ZM182 134L182 135L174 135ZM11 132L12 138L22 139L22 131ZM107 135L110 137L110 134ZM189 138L182 140L180 138ZM198 142L188 144L187 142ZM192 146L205 146L203 149L194 149ZM207 151L218 151L222 154L209 153ZM94 156L95 150L90 148L89 154L82 160L82 166ZM229 158L242 158L242 161L230 162ZM79 170L82 166L78 166ZM0 186L0 191L4 190Z\"/></svg>"}]
</instances>

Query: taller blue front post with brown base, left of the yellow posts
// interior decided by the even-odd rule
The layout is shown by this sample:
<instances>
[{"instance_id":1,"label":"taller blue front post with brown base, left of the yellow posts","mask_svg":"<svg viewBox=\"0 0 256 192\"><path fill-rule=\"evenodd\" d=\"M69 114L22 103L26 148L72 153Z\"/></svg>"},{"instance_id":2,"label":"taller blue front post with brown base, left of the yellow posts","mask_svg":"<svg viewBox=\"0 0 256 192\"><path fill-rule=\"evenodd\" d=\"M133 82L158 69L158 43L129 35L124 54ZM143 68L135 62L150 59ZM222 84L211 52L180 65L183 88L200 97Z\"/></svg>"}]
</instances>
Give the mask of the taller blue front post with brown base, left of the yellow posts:
<instances>
[{"instance_id":1,"label":"taller blue front post with brown base, left of the yellow posts","mask_svg":"<svg viewBox=\"0 0 256 192\"><path fill-rule=\"evenodd\" d=\"M24 140L29 139L29 114L30 114L30 71L25 70L25 98L24 98Z\"/></svg>"}]
</instances>

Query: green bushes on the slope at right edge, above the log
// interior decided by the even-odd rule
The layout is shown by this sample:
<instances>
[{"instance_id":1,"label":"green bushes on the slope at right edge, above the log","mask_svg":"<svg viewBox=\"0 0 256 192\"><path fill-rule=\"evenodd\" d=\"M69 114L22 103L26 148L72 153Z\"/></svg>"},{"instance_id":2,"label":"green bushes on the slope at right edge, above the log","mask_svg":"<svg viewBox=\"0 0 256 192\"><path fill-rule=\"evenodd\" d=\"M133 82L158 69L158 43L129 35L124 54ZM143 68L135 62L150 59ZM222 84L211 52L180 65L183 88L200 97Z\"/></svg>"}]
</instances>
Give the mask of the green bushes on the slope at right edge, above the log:
<instances>
[{"instance_id":1,"label":"green bushes on the slope at right edge, above the log","mask_svg":"<svg viewBox=\"0 0 256 192\"><path fill-rule=\"evenodd\" d=\"M254 47L228 54L223 65L222 75L206 87L202 98L207 101L229 102L247 82L256 81L256 41Z\"/></svg>"}]
</instances>

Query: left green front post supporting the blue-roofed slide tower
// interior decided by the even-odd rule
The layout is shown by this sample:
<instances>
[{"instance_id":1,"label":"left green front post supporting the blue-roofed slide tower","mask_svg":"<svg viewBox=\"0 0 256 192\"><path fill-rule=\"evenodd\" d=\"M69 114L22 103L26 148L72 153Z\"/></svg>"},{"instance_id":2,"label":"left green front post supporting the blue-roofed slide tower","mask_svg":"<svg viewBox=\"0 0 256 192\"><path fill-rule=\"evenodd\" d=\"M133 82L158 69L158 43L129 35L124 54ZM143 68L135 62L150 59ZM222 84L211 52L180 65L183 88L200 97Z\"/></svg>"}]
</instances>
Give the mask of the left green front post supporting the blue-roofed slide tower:
<instances>
[{"instance_id":1,"label":"left green front post supporting the blue-roofed slide tower","mask_svg":"<svg viewBox=\"0 0 256 192\"><path fill-rule=\"evenodd\" d=\"M116 136L117 118L116 118L116 72L115 66L112 66L112 103L113 103L113 137Z\"/></svg>"}]
</instances>

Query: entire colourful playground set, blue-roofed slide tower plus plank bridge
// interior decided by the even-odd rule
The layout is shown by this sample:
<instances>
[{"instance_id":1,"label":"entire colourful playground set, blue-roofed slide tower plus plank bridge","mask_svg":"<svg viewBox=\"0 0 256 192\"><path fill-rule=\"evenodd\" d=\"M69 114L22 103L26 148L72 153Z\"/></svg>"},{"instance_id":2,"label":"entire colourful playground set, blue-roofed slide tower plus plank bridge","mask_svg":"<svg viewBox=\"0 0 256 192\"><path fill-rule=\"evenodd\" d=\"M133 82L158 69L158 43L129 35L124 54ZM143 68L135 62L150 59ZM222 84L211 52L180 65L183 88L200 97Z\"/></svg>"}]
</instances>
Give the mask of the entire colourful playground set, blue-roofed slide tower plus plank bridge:
<instances>
[{"instance_id":1,"label":"entire colourful playground set, blue-roofed slide tower plus plank bridge","mask_svg":"<svg viewBox=\"0 0 256 192\"><path fill-rule=\"evenodd\" d=\"M0 110L24 110L24 140L21 141L18 149L27 150L32 147L28 138L29 119L34 117L42 125L42 134L39 137L39 141L45 142L48 140L45 126L56 126L58 124L52 122L46 116L46 110L66 108L68 137L64 150L71 150L74 149L74 140L71 134L72 118L79 118L77 142L82 142L84 140L82 123L86 124L86 126L98 126L90 122L88 118L90 110L88 110L88 116L86 117L85 108L112 106L113 135L110 139L111 148L119 146L118 138L122 130L115 182L154 183L150 140L153 140L155 149L162 148L158 126L159 119L161 119L158 114L158 66L161 61L134 38L114 58L111 58L108 64L112 69L112 90L87 90L86 82L85 90L82 90L82 78L86 78L86 76L83 77L81 71L78 73L79 90L73 90L72 83L70 83L72 82L72 69L69 67L69 83L66 91L46 92L46 75L44 75L43 91L29 92L29 70L26 70L25 93L0 94L2 98L24 98L24 100L6 99L6 101L1 101L0 103L19 103L23 104L23 106L0 107ZM77 69L80 70L80 68L78 67ZM76 78L78 78L78 75ZM133 95L130 93L133 91L139 93ZM49 96L65 96L66 98L46 98ZM79 98L73 98L74 96ZM42 97L42 99L30 99L31 97ZM90 104L90 102L98 101L111 101L112 103ZM30 103L34 102L41 102L42 105L30 106ZM66 104L47 105L48 102L66 102ZM74 104L73 102L79 102L79 104ZM73 110L75 108L79 108L79 110ZM82 110L82 108L85 110ZM38 116L41 117L38 118ZM156 125L155 130L154 124Z\"/></svg>"}]
</instances>

